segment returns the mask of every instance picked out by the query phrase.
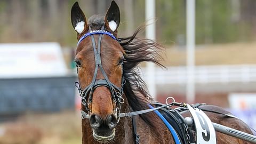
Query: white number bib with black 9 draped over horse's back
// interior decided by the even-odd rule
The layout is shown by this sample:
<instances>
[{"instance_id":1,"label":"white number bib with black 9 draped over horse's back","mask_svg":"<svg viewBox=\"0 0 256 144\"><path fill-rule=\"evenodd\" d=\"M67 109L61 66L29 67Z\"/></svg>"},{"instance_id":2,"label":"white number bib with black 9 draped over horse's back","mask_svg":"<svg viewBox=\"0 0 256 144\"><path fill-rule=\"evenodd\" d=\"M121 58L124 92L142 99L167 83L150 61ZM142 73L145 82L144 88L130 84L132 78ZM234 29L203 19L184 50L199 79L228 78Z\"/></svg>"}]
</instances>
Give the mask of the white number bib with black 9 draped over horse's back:
<instances>
[{"instance_id":1,"label":"white number bib with black 9 draped over horse's back","mask_svg":"<svg viewBox=\"0 0 256 144\"><path fill-rule=\"evenodd\" d=\"M194 118L196 125L196 143L217 143L216 134L210 118L200 109L193 108L187 104L188 110Z\"/></svg>"}]
</instances>

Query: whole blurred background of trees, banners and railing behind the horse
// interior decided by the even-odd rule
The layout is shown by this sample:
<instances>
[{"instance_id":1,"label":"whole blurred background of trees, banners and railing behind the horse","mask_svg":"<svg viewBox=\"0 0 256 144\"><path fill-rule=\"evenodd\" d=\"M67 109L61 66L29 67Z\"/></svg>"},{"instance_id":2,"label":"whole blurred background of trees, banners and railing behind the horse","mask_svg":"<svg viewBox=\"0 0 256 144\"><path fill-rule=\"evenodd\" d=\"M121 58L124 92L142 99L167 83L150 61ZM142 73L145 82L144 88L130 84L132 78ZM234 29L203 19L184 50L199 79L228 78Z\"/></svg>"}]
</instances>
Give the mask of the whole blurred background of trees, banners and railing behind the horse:
<instances>
[{"instance_id":1,"label":"whole blurred background of trees, banners and railing behind the horse","mask_svg":"<svg viewBox=\"0 0 256 144\"><path fill-rule=\"evenodd\" d=\"M71 0L0 0L0 143L81 143ZM111 1L78 1L87 18ZM145 23L145 0L117 0L119 37ZM155 100L186 102L186 1L155 2ZM196 0L195 99L256 129L256 1ZM145 33L140 37L144 38ZM147 79L146 65L143 77Z\"/></svg>"}]
</instances>

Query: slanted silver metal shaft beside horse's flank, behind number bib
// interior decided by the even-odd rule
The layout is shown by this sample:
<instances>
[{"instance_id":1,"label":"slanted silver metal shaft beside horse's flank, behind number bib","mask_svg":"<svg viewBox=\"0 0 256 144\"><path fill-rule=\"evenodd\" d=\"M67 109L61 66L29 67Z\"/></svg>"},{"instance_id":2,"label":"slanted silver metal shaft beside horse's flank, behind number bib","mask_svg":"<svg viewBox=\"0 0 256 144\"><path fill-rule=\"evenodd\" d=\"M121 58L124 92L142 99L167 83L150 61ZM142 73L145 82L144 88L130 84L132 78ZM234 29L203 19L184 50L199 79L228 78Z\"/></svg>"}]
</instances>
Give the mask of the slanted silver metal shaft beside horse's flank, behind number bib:
<instances>
[{"instance_id":1,"label":"slanted silver metal shaft beside horse's flank, behind number bib","mask_svg":"<svg viewBox=\"0 0 256 144\"><path fill-rule=\"evenodd\" d=\"M213 125L214 129L218 132L225 133L227 135L230 135L230 136L238 138L238 139L256 143L256 136L254 136L252 134L241 132L241 131L238 131L238 130L235 130L230 127L223 126L223 125L220 125L217 123L212 123L212 125Z\"/></svg>"}]
</instances>

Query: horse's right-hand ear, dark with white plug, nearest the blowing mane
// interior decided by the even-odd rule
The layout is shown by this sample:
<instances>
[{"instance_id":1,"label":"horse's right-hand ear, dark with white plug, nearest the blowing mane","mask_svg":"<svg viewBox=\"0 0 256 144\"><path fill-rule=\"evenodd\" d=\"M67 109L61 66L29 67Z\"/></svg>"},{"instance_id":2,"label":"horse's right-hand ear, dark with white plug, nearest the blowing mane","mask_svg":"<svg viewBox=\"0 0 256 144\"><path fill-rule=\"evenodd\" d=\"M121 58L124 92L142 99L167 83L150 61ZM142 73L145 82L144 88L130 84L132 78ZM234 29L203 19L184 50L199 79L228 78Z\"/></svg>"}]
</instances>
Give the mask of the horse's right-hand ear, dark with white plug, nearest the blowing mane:
<instances>
[{"instance_id":1,"label":"horse's right-hand ear, dark with white plug, nearest the blowing mane","mask_svg":"<svg viewBox=\"0 0 256 144\"><path fill-rule=\"evenodd\" d=\"M120 10L115 1L111 5L105 15L106 25L112 30L116 31L120 23Z\"/></svg>"}]
</instances>

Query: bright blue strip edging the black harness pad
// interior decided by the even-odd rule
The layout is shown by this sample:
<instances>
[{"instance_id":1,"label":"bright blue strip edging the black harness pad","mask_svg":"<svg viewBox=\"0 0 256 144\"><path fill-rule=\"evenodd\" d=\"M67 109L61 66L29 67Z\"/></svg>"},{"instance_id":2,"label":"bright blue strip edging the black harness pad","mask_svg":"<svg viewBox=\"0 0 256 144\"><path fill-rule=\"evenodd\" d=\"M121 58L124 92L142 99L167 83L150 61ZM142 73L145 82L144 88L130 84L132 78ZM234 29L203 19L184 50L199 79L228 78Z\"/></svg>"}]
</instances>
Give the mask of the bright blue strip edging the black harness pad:
<instances>
[{"instance_id":1,"label":"bright blue strip edging the black harness pad","mask_svg":"<svg viewBox=\"0 0 256 144\"><path fill-rule=\"evenodd\" d=\"M149 108L151 108L151 109L154 108L154 107L151 106L150 104L148 104L148 106L149 106ZM158 110L155 110L155 113L162 119L162 121L164 122L164 124L168 127L168 129L169 129L170 132L172 133L172 137L173 137L175 143L181 144L180 139L179 139L179 136L178 136L177 132L173 129L172 125L171 125L169 122L167 122L167 120L164 118L164 116L163 116L161 113L159 113Z\"/></svg>"}]
</instances>

